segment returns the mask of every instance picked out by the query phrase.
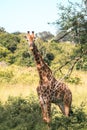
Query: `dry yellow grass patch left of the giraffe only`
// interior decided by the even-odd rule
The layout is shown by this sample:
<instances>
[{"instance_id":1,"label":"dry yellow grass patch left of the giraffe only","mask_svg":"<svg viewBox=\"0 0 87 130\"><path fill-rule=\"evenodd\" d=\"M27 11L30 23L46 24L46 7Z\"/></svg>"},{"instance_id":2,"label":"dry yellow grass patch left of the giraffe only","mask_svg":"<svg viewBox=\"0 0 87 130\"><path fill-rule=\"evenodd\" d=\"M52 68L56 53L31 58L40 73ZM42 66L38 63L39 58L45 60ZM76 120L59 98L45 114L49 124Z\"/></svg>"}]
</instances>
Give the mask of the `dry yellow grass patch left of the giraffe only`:
<instances>
[{"instance_id":1,"label":"dry yellow grass patch left of the giraffe only","mask_svg":"<svg viewBox=\"0 0 87 130\"><path fill-rule=\"evenodd\" d=\"M36 94L38 76L35 68L10 66L0 68L0 101L5 102L9 96L29 96ZM12 76L9 75L12 74ZM7 75L7 76L5 76Z\"/></svg>"}]
</instances>

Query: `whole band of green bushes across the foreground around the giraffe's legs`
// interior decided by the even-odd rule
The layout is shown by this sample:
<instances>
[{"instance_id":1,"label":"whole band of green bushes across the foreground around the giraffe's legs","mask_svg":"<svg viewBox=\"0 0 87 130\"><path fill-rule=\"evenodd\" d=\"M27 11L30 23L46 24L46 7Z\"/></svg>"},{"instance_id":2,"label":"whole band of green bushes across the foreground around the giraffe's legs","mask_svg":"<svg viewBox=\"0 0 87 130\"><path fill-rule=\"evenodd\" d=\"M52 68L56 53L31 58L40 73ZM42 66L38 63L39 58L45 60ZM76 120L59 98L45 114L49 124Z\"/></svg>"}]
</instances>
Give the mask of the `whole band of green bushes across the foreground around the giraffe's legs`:
<instances>
[{"instance_id":1,"label":"whole band of green bushes across the foreground around the giraffe's legs","mask_svg":"<svg viewBox=\"0 0 87 130\"><path fill-rule=\"evenodd\" d=\"M73 114L67 118L61 116L56 107L52 107L52 130L87 130L87 115L84 103L78 108L73 107ZM9 97L3 105L0 103L0 130L47 130L48 126L42 121L41 109L34 95Z\"/></svg>"}]
</instances>

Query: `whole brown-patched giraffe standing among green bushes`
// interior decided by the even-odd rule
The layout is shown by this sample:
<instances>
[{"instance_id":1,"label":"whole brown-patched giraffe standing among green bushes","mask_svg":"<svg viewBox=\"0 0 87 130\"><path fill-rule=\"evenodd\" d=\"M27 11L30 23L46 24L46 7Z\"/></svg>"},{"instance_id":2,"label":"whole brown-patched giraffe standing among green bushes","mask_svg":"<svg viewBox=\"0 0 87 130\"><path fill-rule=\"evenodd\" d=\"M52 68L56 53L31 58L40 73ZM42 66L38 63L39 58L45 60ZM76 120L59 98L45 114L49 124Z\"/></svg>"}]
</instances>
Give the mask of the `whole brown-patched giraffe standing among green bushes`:
<instances>
[{"instance_id":1,"label":"whole brown-patched giraffe standing among green bushes","mask_svg":"<svg viewBox=\"0 0 87 130\"><path fill-rule=\"evenodd\" d=\"M28 31L26 38L36 61L39 73L37 94L43 120L48 124L51 122L51 103L58 105L61 112L68 117L70 115L72 103L72 93L70 89L65 83L58 81L53 76L52 70L43 60L34 42L34 31L32 31L32 34Z\"/></svg>"}]
</instances>

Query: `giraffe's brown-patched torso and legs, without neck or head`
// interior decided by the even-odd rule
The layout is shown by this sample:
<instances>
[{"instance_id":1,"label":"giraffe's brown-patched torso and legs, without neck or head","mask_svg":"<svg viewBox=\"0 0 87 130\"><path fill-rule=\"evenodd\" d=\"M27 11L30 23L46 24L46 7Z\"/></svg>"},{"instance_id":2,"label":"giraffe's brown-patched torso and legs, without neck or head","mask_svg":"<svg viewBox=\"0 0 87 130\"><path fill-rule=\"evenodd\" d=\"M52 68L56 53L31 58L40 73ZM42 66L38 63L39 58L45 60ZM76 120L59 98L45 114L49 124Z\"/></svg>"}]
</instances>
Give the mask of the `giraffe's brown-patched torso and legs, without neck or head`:
<instances>
[{"instance_id":1,"label":"giraffe's brown-patched torso and legs, without neck or head","mask_svg":"<svg viewBox=\"0 0 87 130\"><path fill-rule=\"evenodd\" d=\"M50 122L51 103L58 105L62 113L69 116L69 112L71 110L72 93L64 83L58 82L54 78L51 83L41 84L38 86L37 93L42 109L43 119L47 123Z\"/></svg>"}]
</instances>

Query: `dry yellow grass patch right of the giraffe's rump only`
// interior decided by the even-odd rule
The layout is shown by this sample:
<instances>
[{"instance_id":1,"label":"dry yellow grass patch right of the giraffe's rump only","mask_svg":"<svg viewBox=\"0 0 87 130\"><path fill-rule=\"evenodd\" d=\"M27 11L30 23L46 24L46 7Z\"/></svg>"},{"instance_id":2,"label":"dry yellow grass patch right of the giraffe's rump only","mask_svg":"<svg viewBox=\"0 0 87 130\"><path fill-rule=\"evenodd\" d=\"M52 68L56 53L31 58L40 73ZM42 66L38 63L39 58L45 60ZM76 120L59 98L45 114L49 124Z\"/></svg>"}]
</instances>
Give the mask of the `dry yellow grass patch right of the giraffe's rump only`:
<instances>
[{"instance_id":1,"label":"dry yellow grass patch right of the giraffe's rump only","mask_svg":"<svg viewBox=\"0 0 87 130\"><path fill-rule=\"evenodd\" d=\"M75 71L74 75L79 77L81 81L77 85L69 84L73 95L72 104L78 107L83 102L85 103L85 110L87 111L87 72Z\"/></svg>"}]
</instances>

